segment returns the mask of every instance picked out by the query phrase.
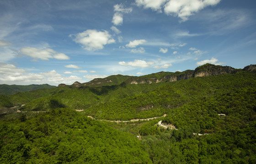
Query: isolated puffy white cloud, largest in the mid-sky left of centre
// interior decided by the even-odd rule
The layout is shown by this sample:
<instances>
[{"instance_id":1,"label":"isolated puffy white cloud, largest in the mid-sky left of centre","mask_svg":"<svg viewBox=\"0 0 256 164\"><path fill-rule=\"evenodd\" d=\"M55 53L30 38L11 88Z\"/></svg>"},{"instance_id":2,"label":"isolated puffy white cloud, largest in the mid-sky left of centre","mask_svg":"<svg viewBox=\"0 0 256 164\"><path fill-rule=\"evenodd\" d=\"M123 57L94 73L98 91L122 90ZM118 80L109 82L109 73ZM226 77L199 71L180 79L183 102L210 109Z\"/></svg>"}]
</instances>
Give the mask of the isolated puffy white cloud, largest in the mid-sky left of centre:
<instances>
[{"instance_id":1,"label":"isolated puffy white cloud, largest in the mid-sky left of centre","mask_svg":"<svg viewBox=\"0 0 256 164\"><path fill-rule=\"evenodd\" d=\"M69 36L75 36L73 41L80 43L88 51L101 50L104 48L104 45L115 43L115 40L108 31L86 30Z\"/></svg>"}]
</instances>

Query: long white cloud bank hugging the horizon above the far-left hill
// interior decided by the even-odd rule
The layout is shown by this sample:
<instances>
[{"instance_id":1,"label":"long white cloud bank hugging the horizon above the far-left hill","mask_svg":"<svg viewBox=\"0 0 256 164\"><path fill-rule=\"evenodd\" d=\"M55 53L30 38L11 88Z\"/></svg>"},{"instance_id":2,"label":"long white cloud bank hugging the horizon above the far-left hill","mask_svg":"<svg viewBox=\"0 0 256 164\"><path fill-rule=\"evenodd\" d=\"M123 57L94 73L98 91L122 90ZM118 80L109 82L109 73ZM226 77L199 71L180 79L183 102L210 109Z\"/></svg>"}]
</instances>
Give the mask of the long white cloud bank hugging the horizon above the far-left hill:
<instances>
[{"instance_id":1,"label":"long white cloud bank hugging the horizon above the far-left hill","mask_svg":"<svg viewBox=\"0 0 256 164\"><path fill-rule=\"evenodd\" d=\"M11 64L0 63L0 82L28 85L32 83L48 83L58 85L59 83L71 84L75 81L81 81L81 77L64 77L55 70L40 73L27 73L26 70L17 68Z\"/></svg>"}]
</instances>

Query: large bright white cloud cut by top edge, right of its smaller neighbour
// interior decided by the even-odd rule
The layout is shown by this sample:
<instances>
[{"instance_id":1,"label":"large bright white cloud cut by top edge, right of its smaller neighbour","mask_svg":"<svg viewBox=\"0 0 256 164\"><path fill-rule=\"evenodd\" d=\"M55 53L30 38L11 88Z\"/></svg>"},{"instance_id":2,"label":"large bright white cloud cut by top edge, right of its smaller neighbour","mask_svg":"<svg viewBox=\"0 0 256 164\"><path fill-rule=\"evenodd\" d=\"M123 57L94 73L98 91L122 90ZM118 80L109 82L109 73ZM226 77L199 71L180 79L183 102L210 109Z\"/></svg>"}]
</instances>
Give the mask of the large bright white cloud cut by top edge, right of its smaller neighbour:
<instances>
[{"instance_id":1,"label":"large bright white cloud cut by top edge, right of its smaller neighbour","mask_svg":"<svg viewBox=\"0 0 256 164\"><path fill-rule=\"evenodd\" d=\"M167 15L174 15L186 21L190 15L210 5L217 5L220 0L169 0L164 11Z\"/></svg>"}]
</instances>

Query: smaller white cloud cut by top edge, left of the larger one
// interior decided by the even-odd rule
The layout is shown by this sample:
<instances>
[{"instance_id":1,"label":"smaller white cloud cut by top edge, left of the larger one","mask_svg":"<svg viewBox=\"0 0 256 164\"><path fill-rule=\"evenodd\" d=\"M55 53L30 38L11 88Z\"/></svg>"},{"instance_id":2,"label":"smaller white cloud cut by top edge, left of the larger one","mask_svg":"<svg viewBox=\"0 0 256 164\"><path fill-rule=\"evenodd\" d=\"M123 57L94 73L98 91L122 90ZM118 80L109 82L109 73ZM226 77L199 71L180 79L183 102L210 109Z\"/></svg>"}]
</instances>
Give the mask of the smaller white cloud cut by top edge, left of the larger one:
<instances>
[{"instance_id":1,"label":"smaller white cloud cut by top edge, left of the larger one","mask_svg":"<svg viewBox=\"0 0 256 164\"><path fill-rule=\"evenodd\" d=\"M135 0L136 5L143 6L145 9L151 8L154 11L161 12L162 5L167 0Z\"/></svg>"}]
</instances>

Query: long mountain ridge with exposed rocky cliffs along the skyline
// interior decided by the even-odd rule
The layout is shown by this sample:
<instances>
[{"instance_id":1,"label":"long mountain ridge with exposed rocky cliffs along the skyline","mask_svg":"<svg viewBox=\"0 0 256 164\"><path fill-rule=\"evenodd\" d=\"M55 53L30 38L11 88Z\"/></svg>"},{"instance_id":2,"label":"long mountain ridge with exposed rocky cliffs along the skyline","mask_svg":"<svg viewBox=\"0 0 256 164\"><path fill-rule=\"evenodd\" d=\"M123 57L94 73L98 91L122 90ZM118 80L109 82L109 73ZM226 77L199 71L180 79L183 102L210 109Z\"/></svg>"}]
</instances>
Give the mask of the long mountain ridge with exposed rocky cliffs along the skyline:
<instances>
[{"instance_id":1,"label":"long mountain ridge with exposed rocky cliffs along the skyline","mask_svg":"<svg viewBox=\"0 0 256 164\"><path fill-rule=\"evenodd\" d=\"M236 73L239 71L254 72L256 73L256 65L249 65L243 69L236 69L229 66L219 66L213 64L204 64L195 68L195 70L186 70L183 72L157 72L143 76L127 76L127 75L111 75L105 78L95 78L90 82L80 83L74 82L72 85L59 84L59 87L71 86L71 87L83 87L83 86L111 86L126 84L151 84L153 82L175 82L178 80L187 80L192 77L206 77L217 76L221 74Z\"/></svg>"}]
</instances>

